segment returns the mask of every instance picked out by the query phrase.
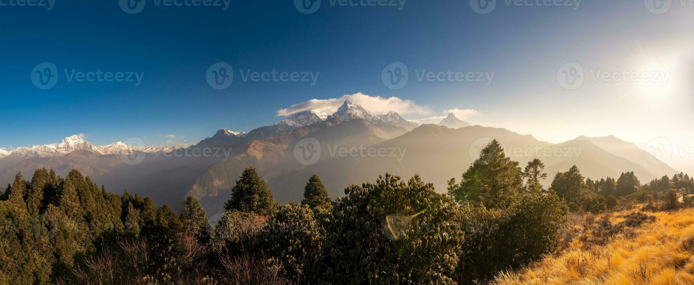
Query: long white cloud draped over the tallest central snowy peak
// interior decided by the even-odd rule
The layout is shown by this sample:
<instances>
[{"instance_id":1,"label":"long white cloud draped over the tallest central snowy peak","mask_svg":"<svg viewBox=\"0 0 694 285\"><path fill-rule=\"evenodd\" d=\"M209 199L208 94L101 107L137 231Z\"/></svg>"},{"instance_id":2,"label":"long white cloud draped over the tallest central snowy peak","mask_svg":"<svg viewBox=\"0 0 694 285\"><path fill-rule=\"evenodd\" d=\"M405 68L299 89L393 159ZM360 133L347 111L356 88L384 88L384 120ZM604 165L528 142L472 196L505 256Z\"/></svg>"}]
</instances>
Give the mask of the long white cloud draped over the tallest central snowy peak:
<instances>
[{"instance_id":1,"label":"long white cloud draped over the tallest central snowy peak","mask_svg":"<svg viewBox=\"0 0 694 285\"><path fill-rule=\"evenodd\" d=\"M353 95L344 95L339 98L332 99L311 99L299 104L289 106L289 108L278 110L275 115L288 116L301 111L320 110L328 114L335 113L337 108L342 106L344 101L348 99L359 105L362 105L366 110L375 114L385 114L389 111L395 111L400 115L427 115L432 113L430 108L420 106L412 100L403 100L398 97L384 98L380 96L369 96L358 92Z\"/></svg>"}]
</instances>

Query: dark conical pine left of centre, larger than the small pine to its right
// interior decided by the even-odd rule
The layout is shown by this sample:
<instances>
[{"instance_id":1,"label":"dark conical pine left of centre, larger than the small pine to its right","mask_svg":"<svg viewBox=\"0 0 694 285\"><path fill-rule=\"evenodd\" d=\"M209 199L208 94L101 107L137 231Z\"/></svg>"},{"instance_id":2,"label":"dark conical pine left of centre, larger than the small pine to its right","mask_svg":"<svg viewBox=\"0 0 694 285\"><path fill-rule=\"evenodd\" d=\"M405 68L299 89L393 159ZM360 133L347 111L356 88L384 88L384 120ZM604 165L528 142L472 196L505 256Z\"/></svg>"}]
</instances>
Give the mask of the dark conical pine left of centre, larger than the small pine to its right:
<instances>
[{"instance_id":1,"label":"dark conical pine left of centre, larger than the small pine to its right","mask_svg":"<svg viewBox=\"0 0 694 285\"><path fill-rule=\"evenodd\" d=\"M224 211L242 211L269 215L277 204L272 191L257 174L255 168L244 169L236 185L231 189L231 199L224 204Z\"/></svg>"}]
</instances>

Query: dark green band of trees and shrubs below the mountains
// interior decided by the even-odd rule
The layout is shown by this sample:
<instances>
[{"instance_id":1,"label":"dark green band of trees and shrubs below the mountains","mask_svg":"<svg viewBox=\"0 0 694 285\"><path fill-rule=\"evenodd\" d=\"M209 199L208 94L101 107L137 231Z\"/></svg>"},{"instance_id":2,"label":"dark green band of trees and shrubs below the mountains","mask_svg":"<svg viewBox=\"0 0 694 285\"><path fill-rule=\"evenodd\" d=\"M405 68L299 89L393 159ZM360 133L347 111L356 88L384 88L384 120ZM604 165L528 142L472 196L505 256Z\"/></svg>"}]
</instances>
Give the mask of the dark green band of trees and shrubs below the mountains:
<instances>
[{"instance_id":1,"label":"dark green band of trees and shrubs below the mountains","mask_svg":"<svg viewBox=\"0 0 694 285\"><path fill-rule=\"evenodd\" d=\"M479 284L550 252L571 211L694 185L686 174L593 181L573 167L544 189L543 169L493 140L445 194L385 174L331 199L314 174L301 204L277 204L246 168L214 227L194 197L177 215L77 170L19 173L0 197L0 283Z\"/></svg>"}]
</instances>

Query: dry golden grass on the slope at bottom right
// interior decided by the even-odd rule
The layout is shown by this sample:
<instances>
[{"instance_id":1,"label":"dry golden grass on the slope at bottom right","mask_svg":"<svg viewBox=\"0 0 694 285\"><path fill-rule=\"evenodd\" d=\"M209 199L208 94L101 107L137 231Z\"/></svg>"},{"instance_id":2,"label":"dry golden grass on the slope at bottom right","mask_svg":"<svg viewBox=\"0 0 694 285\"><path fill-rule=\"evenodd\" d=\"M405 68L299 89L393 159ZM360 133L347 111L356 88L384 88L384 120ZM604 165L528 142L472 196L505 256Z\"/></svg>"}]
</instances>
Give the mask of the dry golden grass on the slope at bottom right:
<instances>
[{"instance_id":1,"label":"dry golden grass on the slope at bottom right","mask_svg":"<svg viewBox=\"0 0 694 285\"><path fill-rule=\"evenodd\" d=\"M616 233L585 226L593 220L618 225L636 212L605 213L586 218L584 226L570 225L584 231L567 235L561 252L502 273L495 284L694 284L694 209L643 212L655 220ZM607 237L586 238L605 232Z\"/></svg>"}]
</instances>

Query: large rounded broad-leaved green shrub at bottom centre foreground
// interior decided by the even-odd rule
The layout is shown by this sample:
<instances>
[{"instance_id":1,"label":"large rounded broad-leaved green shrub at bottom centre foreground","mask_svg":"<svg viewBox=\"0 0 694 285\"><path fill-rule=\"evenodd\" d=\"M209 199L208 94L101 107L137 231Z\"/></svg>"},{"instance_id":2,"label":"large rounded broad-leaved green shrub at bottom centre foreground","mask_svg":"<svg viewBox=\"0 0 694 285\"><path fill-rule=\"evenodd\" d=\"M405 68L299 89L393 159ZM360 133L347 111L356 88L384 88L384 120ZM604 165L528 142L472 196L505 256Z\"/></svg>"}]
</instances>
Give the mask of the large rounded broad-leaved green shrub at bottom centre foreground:
<instances>
[{"instance_id":1,"label":"large rounded broad-leaved green shrub at bottom centre foreground","mask_svg":"<svg viewBox=\"0 0 694 285\"><path fill-rule=\"evenodd\" d=\"M455 284L459 208L418 176L351 185L333 203L316 283Z\"/></svg>"}]
</instances>

